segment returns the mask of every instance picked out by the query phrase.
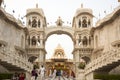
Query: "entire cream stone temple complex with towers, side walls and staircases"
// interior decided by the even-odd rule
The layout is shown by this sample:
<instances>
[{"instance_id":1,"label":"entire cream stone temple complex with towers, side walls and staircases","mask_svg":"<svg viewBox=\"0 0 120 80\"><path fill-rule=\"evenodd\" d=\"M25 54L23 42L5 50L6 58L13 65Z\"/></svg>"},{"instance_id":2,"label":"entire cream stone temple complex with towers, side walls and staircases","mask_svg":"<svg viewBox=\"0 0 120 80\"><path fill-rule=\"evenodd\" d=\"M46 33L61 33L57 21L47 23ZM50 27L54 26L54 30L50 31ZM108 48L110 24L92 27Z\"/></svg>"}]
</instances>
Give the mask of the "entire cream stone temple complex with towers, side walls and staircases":
<instances>
[{"instance_id":1,"label":"entire cream stone temple complex with towers, side walls and staircases","mask_svg":"<svg viewBox=\"0 0 120 80\"><path fill-rule=\"evenodd\" d=\"M27 9L26 25L0 7L0 73L25 72L29 80L34 62L49 70L61 69L76 80L93 80L96 73L119 73L120 6L93 26L93 11L81 5L72 26L59 17L56 25L47 25L41 8ZM73 60L66 58L58 45L53 57L46 59L45 43L52 34L66 34L73 41ZM67 53L66 53L67 54Z\"/></svg>"}]
</instances>

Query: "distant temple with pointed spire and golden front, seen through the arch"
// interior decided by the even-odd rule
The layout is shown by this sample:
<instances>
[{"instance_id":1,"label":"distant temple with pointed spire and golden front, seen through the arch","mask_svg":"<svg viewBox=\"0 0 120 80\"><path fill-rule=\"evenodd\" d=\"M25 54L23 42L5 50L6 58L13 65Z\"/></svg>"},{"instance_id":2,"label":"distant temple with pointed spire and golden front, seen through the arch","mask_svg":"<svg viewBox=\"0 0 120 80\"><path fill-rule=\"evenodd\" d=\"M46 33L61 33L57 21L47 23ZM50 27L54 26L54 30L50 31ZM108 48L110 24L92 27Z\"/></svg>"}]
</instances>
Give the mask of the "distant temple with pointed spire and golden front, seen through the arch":
<instances>
[{"instance_id":1,"label":"distant temple with pointed spire and golden front, seen through the arch","mask_svg":"<svg viewBox=\"0 0 120 80\"><path fill-rule=\"evenodd\" d=\"M54 70L62 70L66 76L74 76L74 64L72 59L68 59L64 52L64 49L60 44L56 47L53 56L50 59L46 59L46 71L49 74L53 73ZM52 71L50 73L50 70Z\"/></svg>"}]
</instances>

